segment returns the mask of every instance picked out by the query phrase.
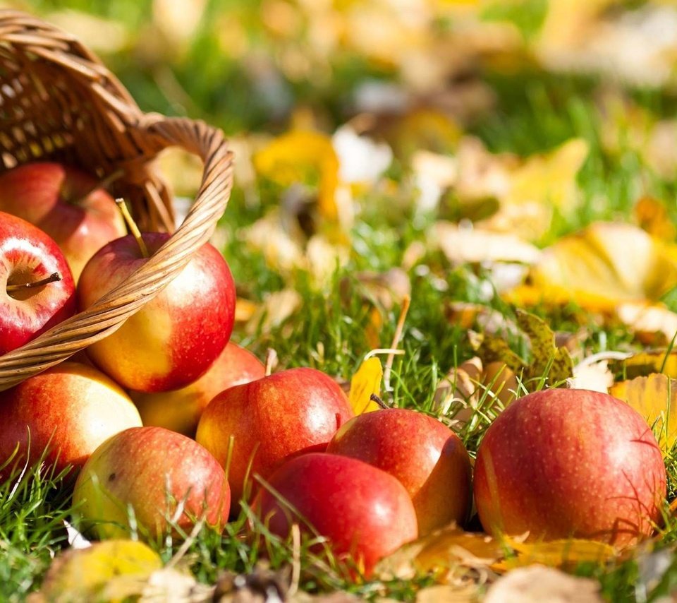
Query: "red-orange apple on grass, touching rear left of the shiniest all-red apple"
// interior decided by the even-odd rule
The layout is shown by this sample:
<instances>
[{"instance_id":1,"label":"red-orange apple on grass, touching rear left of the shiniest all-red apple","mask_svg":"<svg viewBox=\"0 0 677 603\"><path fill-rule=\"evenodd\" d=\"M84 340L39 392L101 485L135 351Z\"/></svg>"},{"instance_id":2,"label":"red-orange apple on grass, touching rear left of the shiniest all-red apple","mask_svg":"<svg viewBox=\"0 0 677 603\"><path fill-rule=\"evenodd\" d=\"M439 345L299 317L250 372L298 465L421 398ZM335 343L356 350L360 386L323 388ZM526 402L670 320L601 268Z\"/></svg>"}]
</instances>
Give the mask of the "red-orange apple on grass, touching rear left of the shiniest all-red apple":
<instances>
[{"instance_id":1,"label":"red-orange apple on grass, touching rear left of the shiniest all-red apple","mask_svg":"<svg viewBox=\"0 0 677 603\"><path fill-rule=\"evenodd\" d=\"M331 377L307 367L286 369L216 395L202 412L195 439L227 467L233 500L249 501L252 475L268 477L292 455L324 452L352 416Z\"/></svg>"}]
</instances>

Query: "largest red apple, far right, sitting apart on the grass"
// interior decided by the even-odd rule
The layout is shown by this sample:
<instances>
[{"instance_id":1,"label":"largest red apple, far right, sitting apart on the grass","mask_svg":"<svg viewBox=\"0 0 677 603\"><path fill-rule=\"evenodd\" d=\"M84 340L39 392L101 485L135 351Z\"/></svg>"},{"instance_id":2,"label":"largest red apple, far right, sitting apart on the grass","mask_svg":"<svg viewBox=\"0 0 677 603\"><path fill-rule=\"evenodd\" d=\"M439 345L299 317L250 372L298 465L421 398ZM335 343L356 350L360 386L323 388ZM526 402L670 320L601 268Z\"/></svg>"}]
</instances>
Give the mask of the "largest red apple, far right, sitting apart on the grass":
<instances>
[{"instance_id":1,"label":"largest red apple, far right, sitting apart on the grass","mask_svg":"<svg viewBox=\"0 0 677 603\"><path fill-rule=\"evenodd\" d=\"M661 524L666 470L641 415L611 395L553 388L511 403L477 450L490 534L634 544Z\"/></svg>"}]
</instances>

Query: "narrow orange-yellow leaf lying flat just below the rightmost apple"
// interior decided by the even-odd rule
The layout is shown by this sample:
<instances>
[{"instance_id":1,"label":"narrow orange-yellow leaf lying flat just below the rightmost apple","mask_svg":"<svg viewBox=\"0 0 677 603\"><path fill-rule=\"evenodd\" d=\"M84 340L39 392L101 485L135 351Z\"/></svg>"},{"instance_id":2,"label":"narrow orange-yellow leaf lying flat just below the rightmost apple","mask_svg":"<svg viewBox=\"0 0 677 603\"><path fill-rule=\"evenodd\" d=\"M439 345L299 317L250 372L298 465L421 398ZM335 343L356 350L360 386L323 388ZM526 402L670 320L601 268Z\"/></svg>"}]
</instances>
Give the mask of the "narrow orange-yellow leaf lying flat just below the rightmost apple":
<instances>
[{"instance_id":1,"label":"narrow orange-yellow leaf lying flat just below the rightmost apple","mask_svg":"<svg viewBox=\"0 0 677 603\"><path fill-rule=\"evenodd\" d=\"M520 542L505 537L504 544L516 552L516 556L508 556L504 560L506 569L534 563L556 568L574 568L579 563L604 563L618 556L618 551L611 545L587 539Z\"/></svg>"}]
</instances>

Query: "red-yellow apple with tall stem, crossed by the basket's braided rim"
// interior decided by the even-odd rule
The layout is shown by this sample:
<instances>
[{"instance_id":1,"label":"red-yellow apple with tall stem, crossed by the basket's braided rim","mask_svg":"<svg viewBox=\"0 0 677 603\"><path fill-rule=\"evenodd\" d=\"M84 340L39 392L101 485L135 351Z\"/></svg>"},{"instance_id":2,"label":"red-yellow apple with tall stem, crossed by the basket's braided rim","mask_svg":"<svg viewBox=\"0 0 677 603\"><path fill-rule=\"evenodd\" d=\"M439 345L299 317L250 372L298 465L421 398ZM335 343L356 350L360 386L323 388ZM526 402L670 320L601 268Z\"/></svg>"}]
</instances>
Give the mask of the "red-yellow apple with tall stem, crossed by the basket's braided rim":
<instances>
[{"instance_id":1,"label":"red-yellow apple with tall stem, crossed by the basket's braided rim","mask_svg":"<svg viewBox=\"0 0 677 603\"><path fill-rule=\"evenodd\" d=\"M169 236L150 232L142 240L152 254ZM94 304L147 261L132 235L99 249L80 275L80 309ZM165 289L112 335L87 347L87 354L128 389L182 388L205 374L226 347L235 303L231 270L221 253L206 243Z\"/></svg>"}]
</instances>

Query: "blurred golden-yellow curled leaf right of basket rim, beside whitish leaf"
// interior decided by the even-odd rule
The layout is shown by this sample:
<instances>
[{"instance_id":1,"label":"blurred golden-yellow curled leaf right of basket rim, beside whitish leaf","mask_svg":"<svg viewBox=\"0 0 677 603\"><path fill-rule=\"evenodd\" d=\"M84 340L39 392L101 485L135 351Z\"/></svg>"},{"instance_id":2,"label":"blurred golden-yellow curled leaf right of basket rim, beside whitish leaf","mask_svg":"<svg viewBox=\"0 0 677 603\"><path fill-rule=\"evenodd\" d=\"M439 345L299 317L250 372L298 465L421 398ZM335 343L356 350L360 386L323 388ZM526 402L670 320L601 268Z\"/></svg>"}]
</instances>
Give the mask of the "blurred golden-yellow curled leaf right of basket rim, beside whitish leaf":
<instances>
[{"instance_id":1,"label":"blurred golden-yellow curled leaf right of basket rim, beside whitish leaf","mask_svg":"<svg viewBox=\"0 0 677 603\"><path fill-rule=\"evenodd\" d=\"M281 186L317 186L320 214L338 219L338 157L326 134L302 130L283 134L255 155L254 165L259 174Z\"/></svg>"}]
</instances>

